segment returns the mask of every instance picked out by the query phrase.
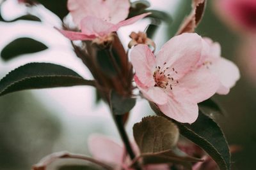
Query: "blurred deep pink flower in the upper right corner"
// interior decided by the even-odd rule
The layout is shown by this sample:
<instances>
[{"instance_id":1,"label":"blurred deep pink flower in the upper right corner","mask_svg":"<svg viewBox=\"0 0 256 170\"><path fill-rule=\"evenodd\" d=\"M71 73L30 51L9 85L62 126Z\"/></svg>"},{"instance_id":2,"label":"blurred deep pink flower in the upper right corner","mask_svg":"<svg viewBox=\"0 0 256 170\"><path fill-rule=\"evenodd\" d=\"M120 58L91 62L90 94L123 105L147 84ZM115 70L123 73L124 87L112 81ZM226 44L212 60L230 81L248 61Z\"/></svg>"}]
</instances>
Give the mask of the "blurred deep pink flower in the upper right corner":
<instances>
[{"instance_id":1,"label":"blurred deep pink flower in the upper right corner","mask_svg":"<svg viewBox=\"0 0 256 170\"><path fill-rule=\"evenodd\" d=\"M255 0L218 0L214 3L221 19L231 27L256 32Z\"/></svg>"}]
</instances>

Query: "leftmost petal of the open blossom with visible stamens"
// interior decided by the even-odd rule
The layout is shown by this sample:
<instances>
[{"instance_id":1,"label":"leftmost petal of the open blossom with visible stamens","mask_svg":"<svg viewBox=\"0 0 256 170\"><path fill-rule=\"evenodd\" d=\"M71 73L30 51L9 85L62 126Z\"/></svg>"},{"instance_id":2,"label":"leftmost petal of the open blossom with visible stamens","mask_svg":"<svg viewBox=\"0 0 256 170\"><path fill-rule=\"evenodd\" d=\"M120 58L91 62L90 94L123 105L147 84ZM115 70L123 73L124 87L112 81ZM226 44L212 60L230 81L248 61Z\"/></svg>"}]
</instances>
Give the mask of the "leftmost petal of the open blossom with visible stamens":
<instances>
[{"instance_id":1,"label":"leftmost petal of the open blossom with visible stamens","mask_svg":"<svg viewBox=\"0 0 256 170\"><path fill-rule=\"evenodd\" d=\"M135 69L138 80L147 87L155 84L153 74L156 67L156 57L147 45L137 45L132 48L131 53L132 66ZM141 86L140 84L138 84Z\"/></svg>"}]
</instances>

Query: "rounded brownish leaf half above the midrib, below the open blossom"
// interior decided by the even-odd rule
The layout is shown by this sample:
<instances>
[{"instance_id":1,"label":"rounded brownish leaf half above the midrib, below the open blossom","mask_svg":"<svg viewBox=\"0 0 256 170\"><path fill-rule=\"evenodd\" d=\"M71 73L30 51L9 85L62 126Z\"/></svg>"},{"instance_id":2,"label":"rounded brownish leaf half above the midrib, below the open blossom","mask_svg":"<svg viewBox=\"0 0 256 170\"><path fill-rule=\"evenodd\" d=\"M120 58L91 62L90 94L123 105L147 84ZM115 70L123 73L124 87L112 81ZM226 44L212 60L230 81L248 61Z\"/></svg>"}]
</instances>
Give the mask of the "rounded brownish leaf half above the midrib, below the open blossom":
<instances>
[{"instance_id":1,"label":"rounded brownish leaf half above the midrib, below the open blossom","mask_svg":"<svg viewBox=\"0 0 256 170\"><path fill-rule=\"evenodd\" d=\"M141 153L170 150L177 145L179 129L163 117L144 117L134 124L133 136Z\"/></svg>"}]
</instances>

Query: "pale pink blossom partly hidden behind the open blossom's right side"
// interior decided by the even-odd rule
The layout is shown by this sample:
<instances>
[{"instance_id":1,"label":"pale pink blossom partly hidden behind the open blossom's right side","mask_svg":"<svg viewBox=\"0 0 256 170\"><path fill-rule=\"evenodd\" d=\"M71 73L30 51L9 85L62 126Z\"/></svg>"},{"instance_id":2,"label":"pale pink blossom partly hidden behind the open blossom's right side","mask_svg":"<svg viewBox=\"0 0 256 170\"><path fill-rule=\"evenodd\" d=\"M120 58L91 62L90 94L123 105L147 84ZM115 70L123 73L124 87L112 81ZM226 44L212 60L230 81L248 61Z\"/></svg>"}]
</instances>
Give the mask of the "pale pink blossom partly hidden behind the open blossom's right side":
<instances>
[{"instance_id":1,"label":"pale pink blossom partly hidden behind the open blossom's right side","mask_svg":"<svg viewBox=\"0 0 256 170\"><path fill-rule=\"evenodd\" d=\"M217 93L228 94L230 88L234 87L240 78L239 69L232 61L221 57L219 43L213 42L209 38L204 38L204 40L209 45L209 53L203 65L219 78L221 85Z\"/></svg>"}]
</instances>

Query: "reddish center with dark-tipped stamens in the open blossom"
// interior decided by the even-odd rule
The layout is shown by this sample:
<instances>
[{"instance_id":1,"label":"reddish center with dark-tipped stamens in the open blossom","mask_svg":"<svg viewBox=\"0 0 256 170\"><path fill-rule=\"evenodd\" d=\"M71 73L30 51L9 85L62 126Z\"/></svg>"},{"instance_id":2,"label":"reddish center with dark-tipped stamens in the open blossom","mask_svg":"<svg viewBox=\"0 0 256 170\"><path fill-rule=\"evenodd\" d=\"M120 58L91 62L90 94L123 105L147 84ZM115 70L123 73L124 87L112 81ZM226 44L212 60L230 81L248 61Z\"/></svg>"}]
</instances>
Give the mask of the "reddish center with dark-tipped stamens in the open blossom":
<instances>
[{"instance_id":1,"label":"reddish center with dark-tipped stamens in the open blossom","mask_svg":"<svg viewBox=\"0 0 256 170\"><path fill-rule=\"evenodd\" d=\"M164 65L166 62L164 62ZM168 71L170 67L165 67L161 69L160 66L156 66L156 71L154 71L153 78L155 80L154 87L161 87L163 89L166 89L170 87L170 89L173 89L173 86L177 85L179 83L178 80L174 80L173 76L170 74L170 71ZM174 68L171 69L173 74L178 74L177 71L175 71ZM168 72L168 73L166 73Z\"/></svg>"}]
</instances>

